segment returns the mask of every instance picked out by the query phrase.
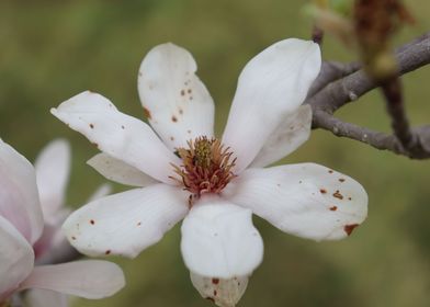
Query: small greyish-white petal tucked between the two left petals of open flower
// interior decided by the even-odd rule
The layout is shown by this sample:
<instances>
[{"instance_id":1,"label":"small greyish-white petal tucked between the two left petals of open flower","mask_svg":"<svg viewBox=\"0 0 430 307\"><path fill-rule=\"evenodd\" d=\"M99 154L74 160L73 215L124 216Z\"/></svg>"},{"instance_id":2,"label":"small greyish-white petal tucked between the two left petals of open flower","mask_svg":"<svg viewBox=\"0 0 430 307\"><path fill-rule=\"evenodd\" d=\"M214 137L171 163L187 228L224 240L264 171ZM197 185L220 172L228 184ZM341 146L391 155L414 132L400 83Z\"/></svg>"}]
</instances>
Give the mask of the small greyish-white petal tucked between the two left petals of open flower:
<instances>
[{"instance_id":1,"label":"small greyish-white petal tucked between the two left petals of open flower","mask_svg":"<svg viewBox=\"0 0 430 307\"><path fill-rule=\"evenodd\" d=\"M101 152L87 161L87 164L92 167L106 179L133 186L147 186L156 183L151 177L142 172L140 170L115 159L108 154Z\"/></svg>"}]
</instances>

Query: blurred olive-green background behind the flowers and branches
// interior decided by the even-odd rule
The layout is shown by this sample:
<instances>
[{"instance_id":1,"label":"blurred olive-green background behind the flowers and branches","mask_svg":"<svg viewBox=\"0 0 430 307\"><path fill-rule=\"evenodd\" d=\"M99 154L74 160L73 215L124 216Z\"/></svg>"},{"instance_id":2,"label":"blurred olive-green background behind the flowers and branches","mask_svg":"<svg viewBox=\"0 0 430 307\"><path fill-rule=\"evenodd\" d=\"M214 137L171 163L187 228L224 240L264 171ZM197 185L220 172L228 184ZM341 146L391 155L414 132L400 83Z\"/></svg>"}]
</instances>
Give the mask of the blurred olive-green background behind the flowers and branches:
<instances>
[{"instance_id":1,"label":"blurred olive-green background behind the flowers and branches","mask_svg":"<svg viewBox=\"0 0 430 307\"><path fill-rule=\"evenodd\" d=\"M227 118L237 76L258 52L284 37L309 37L306 1L142 0L0 2L0 137L29 159L56 137L68 138L73 161L68 203L81 205L103 179L86 161L97 151L48 112L90 89L143 118L136 76L144 55L173 42L195 56L216 102L217 132ZM406 1L417 25L397 44L430 29L430 2ZM326 37L325 59L355 55ZM430 68L405 78L414 124L430 123ZM346 121L389 132L377 92L343 107ZM316 243L282 234L254 217L264 243L239 306L430 306L430 161L411 161L315 130L284 162L315 161L360 181L370 196L367 220L347 240ZM115 186L116 191L124 186ZM211 306L189 280L177 226L137 259L114 259L127 286L75 306Z\"/></svg>"}]
</instances>

